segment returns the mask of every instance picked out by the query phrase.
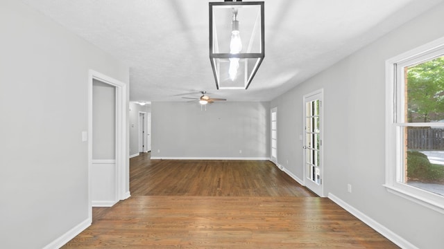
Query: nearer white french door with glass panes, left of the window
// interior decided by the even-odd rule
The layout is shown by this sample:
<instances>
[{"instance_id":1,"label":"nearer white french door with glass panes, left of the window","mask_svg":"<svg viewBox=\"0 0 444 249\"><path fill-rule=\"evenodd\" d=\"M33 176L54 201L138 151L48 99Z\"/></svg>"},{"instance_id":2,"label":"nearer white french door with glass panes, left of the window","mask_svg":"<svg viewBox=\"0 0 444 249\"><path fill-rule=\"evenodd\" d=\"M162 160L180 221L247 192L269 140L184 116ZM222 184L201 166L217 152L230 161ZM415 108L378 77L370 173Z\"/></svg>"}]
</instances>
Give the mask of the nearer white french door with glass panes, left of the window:
<instances>
[{"instance_id":1,"label":"nearer white french door with glass panes, left of the window","mask_svg":"<svg viewBox=\"0 0 444 249\"><path fill-rule=\"evenodd\" d=\"M304 182L323 195L323 90L304 96Z\"/></svg>"}]
</instances>

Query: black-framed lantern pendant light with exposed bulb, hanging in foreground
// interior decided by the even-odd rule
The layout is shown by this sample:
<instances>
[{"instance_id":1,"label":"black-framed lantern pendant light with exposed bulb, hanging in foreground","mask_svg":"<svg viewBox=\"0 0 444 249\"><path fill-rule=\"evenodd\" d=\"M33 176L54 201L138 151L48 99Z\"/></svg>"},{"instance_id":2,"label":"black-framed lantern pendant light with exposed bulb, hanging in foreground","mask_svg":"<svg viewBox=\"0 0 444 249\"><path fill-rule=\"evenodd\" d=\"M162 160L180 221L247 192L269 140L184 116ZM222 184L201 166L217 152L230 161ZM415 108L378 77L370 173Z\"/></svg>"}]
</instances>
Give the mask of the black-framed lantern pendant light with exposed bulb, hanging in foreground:
<instances>
[{"instance_id":1,"label":"black-framed lantern pendant light with exposed bulb, hanging in foreground","mask_svg":"<svg viewBox=\"0 0 444 249\"><path fill-rule=\"evenodd\" d=\"M264 59L264 2L210 2L210 62L217 89L248 89Z\"/></svg>"}]
</instances>

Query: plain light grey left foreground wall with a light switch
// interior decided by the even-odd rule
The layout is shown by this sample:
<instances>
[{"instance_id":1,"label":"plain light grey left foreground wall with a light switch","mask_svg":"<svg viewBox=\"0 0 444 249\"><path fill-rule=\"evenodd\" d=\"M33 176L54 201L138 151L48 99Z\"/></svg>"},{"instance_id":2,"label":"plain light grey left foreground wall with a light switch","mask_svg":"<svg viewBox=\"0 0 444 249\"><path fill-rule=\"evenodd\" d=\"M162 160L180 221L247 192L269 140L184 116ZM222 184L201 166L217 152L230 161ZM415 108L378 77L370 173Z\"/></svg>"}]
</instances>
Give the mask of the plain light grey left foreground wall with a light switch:
<instances>
[{"instance_id":1,"label":"plain light grey left foreground wall with a light switch","mask_svg":"<svg viewBox=\"0 0 444 249\"><path fill-rule=\"evenodd\" d=\"M88 70L129 70L20 1L0 30L0 248L44 248L88 219Z\"/></svg>"}]
</instances>

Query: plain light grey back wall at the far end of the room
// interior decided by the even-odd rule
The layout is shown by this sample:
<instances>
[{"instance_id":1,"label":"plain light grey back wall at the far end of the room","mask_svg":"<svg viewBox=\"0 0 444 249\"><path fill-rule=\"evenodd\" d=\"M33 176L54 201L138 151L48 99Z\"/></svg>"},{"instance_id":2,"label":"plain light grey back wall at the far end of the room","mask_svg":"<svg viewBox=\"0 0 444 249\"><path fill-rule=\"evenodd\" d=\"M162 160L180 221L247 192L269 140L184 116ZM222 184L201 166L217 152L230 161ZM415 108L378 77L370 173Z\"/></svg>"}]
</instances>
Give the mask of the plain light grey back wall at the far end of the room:
<instances>
[{"instance_id":1,"label":"plain light grey back wall at the far end of the room","mask_svg":"<svg viewBox=\"0 0 444 249\"><path fill-rule=\"evenodd\" d=\"M269 116L269 102L152 102L151 156L269 158Z\"/></svg>"}]
</instances>

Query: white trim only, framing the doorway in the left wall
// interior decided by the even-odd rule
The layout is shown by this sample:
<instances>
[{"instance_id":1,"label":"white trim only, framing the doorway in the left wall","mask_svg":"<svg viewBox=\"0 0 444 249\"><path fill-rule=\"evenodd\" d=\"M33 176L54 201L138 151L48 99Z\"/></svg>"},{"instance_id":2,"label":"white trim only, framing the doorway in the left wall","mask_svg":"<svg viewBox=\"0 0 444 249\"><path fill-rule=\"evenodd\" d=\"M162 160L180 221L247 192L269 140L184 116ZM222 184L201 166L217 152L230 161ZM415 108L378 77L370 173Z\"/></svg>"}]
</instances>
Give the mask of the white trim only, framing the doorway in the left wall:
<instances>
[{"instance_id":1,"label":"white trim only, framing the doorway in the left wall","mask_svg":"<svg viewBox=\"0 0 444 249\"><path fill-rule=\"evenodd\" d=\"M88 76L88 218L92 221L92 86L93 80L98 80L116 88L116 201L127 199L130 196L126 186L129 184L129 172L127 169L127 85L112 77L103 75L94 70L89 70ZM127 174L128 173L128 174Z\"/></svg>"}]
</instances>

